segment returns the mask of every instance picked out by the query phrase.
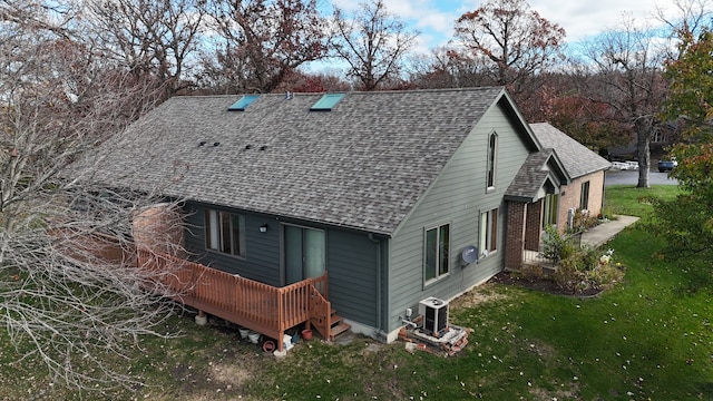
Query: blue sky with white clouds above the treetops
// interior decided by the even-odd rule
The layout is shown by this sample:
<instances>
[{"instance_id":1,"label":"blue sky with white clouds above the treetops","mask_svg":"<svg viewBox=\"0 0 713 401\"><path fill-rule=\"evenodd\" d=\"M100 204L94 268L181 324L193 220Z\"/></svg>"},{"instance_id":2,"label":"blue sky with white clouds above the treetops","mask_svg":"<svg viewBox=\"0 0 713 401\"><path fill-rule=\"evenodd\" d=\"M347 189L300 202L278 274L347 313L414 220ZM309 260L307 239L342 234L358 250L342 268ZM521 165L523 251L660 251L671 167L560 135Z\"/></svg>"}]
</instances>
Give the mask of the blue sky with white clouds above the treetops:
<instances>
[{"instance_id":1,"label":"blue sky with white clouds above the treetops","mask_svg":"<svg viewBox=\"0 0 713 401\"><path fill-rule=\"evenodd\" d=\"M328 0L329 1L329 0ZM345 11L360 0L332 0ZM485 0L384 0L387 9L421 32L418 52L428 52L446 45L453 35L453 22L467 11L476 10ZM656 6L670 8L665 0L529 0L530 8L540 17L559 25L567 32L566 41L576 43L594 37L607 28L615 28L623 16L637 22L655 23Z\"/></svg>"}]
</instances>

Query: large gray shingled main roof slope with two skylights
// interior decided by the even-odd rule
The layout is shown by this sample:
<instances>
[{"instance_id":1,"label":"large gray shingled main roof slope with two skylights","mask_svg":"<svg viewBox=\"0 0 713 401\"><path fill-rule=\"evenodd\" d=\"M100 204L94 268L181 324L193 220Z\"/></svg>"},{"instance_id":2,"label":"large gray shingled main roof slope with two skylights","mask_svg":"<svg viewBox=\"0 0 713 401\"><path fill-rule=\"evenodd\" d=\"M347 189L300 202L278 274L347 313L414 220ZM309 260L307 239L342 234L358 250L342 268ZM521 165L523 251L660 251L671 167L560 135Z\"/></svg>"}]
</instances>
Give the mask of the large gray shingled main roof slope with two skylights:
<instances>
[{"instance_id":1,"label":"large gray shingled main roof slope with two skylights","mask_svg":"<svg viewBox=\"0 0 713 401\"><path fill-rule=\"evenodd\" d=\"M105 144L100 168L115 186L390 234L504 94L349 92L331 111L310 111L314 94L245 111L226 110L240 95L174 97Z\"/></svg>"}]
</instances>

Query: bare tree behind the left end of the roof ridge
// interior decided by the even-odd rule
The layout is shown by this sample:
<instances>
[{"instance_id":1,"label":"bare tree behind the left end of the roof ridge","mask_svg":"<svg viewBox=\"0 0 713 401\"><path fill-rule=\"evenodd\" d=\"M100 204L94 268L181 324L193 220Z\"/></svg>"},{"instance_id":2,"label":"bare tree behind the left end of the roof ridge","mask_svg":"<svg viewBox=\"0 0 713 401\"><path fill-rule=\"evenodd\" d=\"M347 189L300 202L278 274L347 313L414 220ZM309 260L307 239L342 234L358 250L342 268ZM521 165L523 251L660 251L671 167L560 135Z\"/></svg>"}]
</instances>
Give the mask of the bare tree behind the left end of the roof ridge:
<instances>
[{"instance_id":1,"label":"bare tree behind the left end of the roof ridge","mask_svg":"<svg viewBox=\"0 0 713 401\"><path fill-rule=\"evenodd\" d=\"M87 0L77 22L105 62L152 79L166 97L189 88L203 41L204 12L197 0ZM195 71L194 71L195 72Z\"/></svg>"}]
</instances>

